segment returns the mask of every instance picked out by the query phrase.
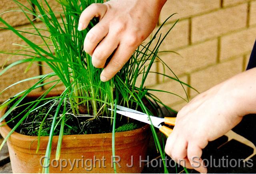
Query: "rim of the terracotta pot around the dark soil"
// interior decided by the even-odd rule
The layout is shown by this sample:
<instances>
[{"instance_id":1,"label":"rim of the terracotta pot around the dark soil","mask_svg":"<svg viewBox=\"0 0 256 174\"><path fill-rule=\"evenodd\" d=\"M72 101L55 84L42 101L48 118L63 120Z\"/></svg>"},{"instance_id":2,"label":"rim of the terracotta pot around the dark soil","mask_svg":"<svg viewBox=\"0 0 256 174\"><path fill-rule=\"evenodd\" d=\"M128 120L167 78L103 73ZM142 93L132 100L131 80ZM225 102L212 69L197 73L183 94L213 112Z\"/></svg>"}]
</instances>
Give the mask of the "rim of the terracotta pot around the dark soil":
<instances>
[{"instance_id":1,"label":"rim of the terracotta pot around the dark soil","mask_svg":"<svg viewBox=\"0 0 256 174\"><path fill-rule=\"evenodd\" d=\"M40 93L32 93L27 97L35 97L36 94L40 94ZM56 95L54 93L54 95ZM2 109L0 111L0 117L2 117L4 115L4 113L6 112L6 108ZM5 125L4 125L5 124ZM134 129L134 130L129 130L129 131L124 131L124 132L115 132L115 138L116 138L116 142L115 144L123 144L123 143L133 143L133 140L128 140L128 137L133 137L135 138L135 135L139 134L139 138L140 140L143 140L144 138L147 138L146 134L148 132L150 125L145 125L143 127L140 127L138 129ZM6 124L6 121L2 121L0 123L0 133L2 134L2 136L5 138L8 133L11 131L12 129ZM54 141L58 141L58 135L53 136L53 142ZM118 138L120 137L127 137L125 139L125 141L120 141L118 142ZM109 144L112 144L112 132L109 133L100 133L100 134L76 134L76 135L63 135L63 139L62 139L62 144L63 142L68 142L68 141L76 141L78 142L83 142L82 144L79 144L78 147L85 147L88 146L88 144L90 144L90 141L92 140L97 140L97 139L104 139L104 145L102 143L99 143L98 146L108 146ZM131 138L133 139L133 138ZM48 142L49 140L49 136L40 136L40 144L42 142ZM90 140L88 142L88 140ZM30 144L30 149L34 149L37 148L37 144L38 144L38 136L28 136L28 135L24 135L24 134L20 134L18 132L13 132L10 137L8 138L8 142L15 144L15 146L18 146L20 148L26 148L26 144ZM22 142L22 143L21 143ZM84 142L88 142L87 144ZM71 146L70 146L71 147ZM44 149L44 147L42 147ZM41 145L40 145L40 149L41 149Z\"/></svg>"}]
</instances>

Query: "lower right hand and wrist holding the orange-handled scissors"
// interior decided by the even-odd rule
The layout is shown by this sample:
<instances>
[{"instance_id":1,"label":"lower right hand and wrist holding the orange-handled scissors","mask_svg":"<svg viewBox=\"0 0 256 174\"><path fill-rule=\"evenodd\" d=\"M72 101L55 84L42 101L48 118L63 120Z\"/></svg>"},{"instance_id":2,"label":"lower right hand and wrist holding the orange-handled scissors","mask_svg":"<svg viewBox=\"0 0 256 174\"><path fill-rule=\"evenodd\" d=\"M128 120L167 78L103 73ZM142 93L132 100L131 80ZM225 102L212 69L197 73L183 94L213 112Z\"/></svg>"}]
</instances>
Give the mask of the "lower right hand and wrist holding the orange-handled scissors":
<instances>
[{"instance_id":1,"label":"lower right hand and wrist holding the orange-handled scissors","mask_svg":"<svg viewBox=\"0 0 256 174\"><path fill-rule=\"evenodd\" d=\"M240 73L201 93L183 107L167 139L166 153L182 166L206 173L201 156L208 141L235 127L242 116L256 113L255 74L256 68Z\"/></svg>"}]
</instances>

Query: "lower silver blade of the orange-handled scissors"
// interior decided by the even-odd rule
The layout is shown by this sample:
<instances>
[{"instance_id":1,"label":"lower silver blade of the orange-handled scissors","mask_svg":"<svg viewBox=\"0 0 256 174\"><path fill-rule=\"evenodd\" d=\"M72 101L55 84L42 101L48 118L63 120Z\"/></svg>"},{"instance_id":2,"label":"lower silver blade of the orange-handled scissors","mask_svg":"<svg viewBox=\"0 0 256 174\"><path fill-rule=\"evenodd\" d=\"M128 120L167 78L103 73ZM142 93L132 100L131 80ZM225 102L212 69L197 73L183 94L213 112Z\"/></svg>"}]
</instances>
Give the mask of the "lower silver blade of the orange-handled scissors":
<instances>
[{"instance_id":1,"label":"lower silver blade of the orange-handled scissors","mask_svg":"<svg viewBox=\"0 0 256 174\"><path fill-rule=\"evenodd\" d=\"M148 115L131 113L128 111L116 111L116 113L151 125L151 122L148 119ZM158 129L161 127L161 123L163 122L162 118L150 116L150 119L154 127L157 127Z\"/></svg>"}]
</instances>

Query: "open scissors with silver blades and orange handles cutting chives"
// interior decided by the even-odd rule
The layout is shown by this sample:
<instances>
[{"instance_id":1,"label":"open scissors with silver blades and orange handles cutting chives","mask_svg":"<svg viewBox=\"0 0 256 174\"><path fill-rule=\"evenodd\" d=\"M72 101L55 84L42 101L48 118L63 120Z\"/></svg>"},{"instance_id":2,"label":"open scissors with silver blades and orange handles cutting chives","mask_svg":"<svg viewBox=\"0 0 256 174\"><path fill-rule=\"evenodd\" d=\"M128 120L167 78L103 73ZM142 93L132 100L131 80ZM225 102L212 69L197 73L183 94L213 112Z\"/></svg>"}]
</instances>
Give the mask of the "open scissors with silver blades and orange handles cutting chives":
<instances>
[{"instance_id":1,"label":"open scissors with silver blades and orange handles cutting chives","mask_svg":"<svg viewBox=\"0 0 256 174\"><path fill-rule=\"evenodd\" d=\"M148 119L148 115L140 111L136 111L127 107L116 105L116 113L151 125L151 122ZM166 125L175 126L176 117L164 117L164 118L155 117L155 116L149 116L149 117L152 121L152 125L158 128L163 134L165 134L166 136L169 136L172 133L172 129L166 126L162 126L162 123L165 123Z\"/></svg>"}]
</instances>

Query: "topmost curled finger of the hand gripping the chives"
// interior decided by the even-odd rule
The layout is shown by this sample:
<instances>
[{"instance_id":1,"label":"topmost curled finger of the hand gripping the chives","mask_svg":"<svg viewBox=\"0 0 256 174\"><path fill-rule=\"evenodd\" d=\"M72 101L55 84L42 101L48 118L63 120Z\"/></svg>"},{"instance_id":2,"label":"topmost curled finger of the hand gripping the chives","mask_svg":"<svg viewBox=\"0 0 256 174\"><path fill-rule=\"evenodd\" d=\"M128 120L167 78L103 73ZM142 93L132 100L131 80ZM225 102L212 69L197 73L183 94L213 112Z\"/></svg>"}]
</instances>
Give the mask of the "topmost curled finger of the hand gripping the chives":
<instances>
[{"instance_id":1,"label":"topmost curled finger of the hand gripping the chives","mask_svg":"<svg viewBox=\"0 0 256 174\"><path fill-rule=\"evenodd\" d=\"M78 23L78 31L86 29L90 20L94 17L99 17L100 19L104 16L107 11L107 6L105 4L94 3L88 6L81 14Z\"/></svg>"}]
</instances>

